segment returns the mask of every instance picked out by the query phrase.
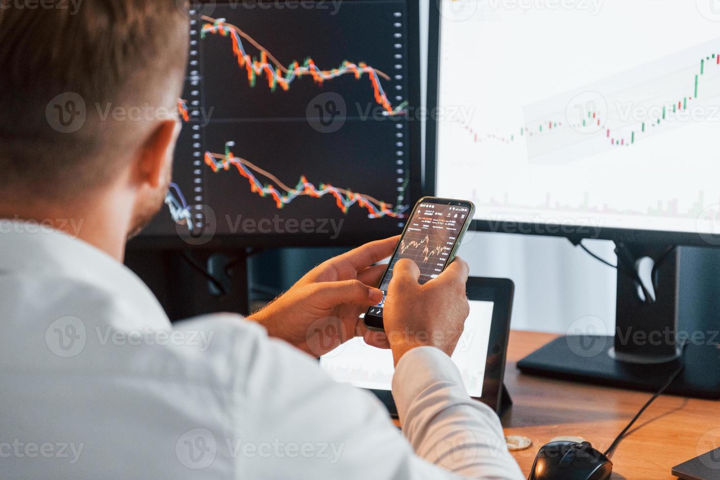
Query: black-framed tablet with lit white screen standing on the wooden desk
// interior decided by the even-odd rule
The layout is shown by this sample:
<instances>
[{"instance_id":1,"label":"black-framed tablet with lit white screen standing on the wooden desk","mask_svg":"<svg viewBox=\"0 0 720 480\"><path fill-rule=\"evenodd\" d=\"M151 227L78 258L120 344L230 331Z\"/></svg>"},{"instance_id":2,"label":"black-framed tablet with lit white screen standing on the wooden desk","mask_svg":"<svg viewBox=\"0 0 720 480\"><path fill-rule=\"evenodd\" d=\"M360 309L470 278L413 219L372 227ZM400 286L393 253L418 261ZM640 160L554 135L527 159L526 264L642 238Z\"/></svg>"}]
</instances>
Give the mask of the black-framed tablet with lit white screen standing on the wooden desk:
<instances>
[{"instance_id":1,"label":"black-framed tablet with lit white screen standing on the wooden desk","mask_svg":"<svg viewBox=\"0 0 720 480\"><path fill-rule=\"evenodd\" d=\"M509 279L470 277L467 280L470 314L451 358L470 397L501 415L503 374L510 333L513 282ZM392 352L367 345L356 337L320 357L320 366L336 381L369 389L397 415L390 388L395 371ZM509 399L508 399L509 400Z\"/></svg>"}]
</instances>

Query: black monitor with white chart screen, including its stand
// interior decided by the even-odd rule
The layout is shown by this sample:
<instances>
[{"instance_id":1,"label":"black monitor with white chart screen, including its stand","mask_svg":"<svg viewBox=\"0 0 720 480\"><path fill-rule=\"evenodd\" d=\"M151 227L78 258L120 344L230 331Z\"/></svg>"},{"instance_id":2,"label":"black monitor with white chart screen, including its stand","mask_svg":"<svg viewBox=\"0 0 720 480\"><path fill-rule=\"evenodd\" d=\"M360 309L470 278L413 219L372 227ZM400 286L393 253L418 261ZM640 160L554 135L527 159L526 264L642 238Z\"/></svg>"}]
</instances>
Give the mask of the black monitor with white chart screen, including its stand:
<instances>
[{"instance_id":1,"label":"black monitor with white chart screen, including its stand","mask_svg":"<svg viewBox=\"0 0 720 480\"><path fill-rule=\"evenodd\" d=\"M431 2L435 194L474 201L476 230L616 243L614 338L567 335L523 371L655 389L680 361L690 339L678 330L685 254L675 247L720 245L720 13L710 3ZM638 276L646 257L650 282ZM670 391L720 397L709 373L720 371L719 339L705 333Z\"/></svg>"}]
</instances>

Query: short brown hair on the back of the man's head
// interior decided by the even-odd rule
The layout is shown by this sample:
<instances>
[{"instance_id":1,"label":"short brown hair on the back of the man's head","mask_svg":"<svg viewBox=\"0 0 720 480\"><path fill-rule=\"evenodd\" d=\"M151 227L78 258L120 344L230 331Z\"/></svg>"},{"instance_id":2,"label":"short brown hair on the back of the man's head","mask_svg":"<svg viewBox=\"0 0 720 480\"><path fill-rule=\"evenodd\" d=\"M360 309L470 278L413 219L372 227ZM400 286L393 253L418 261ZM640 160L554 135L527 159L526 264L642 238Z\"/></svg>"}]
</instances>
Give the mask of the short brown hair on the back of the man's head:
<instances>
[{"instance_id":1,"label":"short brown hair on the back of the man's head","mask_svg":"<svg viewBox=\"0 0 720 480\"><path fill-rule=\"evenodd\" d=\"M181 93L189 36L183 1L41 4L0 0L0 200L67 199L103 184L143 134L142 122L102 121L103 112L167 107ZM53 108L64 108L53 99L68 96L85 104L74 132L51 118Z\"/></svg>"}]
</instances>

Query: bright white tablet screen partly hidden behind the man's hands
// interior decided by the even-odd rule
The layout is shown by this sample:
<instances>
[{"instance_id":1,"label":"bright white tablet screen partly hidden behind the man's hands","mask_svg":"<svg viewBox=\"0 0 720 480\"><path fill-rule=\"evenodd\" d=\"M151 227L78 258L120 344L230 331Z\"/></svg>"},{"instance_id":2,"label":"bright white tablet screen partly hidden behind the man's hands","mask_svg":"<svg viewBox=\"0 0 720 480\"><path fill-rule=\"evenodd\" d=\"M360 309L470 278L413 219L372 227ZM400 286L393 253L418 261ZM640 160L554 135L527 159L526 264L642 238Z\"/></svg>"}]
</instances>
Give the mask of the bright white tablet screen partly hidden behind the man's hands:
<instances>
[{"instance_id":1,"label":"bright white tablet screen partly hidden behind the man's hands","mask_svg":"<svg viewBox=\"0 0 720 480\"><path fill-rule=\"evenodd\" d=\"M494 302L471 300L465 330L451 358L471 397L482 397L487 344ZM390 390L395 371L392 352L367 345L356 337L320 357L320 366L336 381L373 390Z\"/></svg>"}]
</instances>

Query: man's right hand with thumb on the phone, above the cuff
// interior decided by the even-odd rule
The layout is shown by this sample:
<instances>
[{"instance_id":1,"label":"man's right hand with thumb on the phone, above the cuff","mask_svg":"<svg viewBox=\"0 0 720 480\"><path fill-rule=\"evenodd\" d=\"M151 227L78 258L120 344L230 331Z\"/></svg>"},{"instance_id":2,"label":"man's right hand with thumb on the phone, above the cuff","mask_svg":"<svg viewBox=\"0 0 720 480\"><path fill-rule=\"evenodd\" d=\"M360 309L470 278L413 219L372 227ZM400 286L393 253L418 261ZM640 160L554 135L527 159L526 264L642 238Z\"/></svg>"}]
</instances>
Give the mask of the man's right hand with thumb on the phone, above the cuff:
<instances>
[{"instance_id":1,"label":"man's right hand with thumb on the phone, above the cuff","mask_svg":"<svg viewBox=\"0 0 720 480\"><path fill-rule=\"evenodd\" d=\"M423 345L453 353L469 314L467 274L467 263L455 258L440 275L420 285L415 262L404 258L395 263L382 318L396 365L405 352Z\"/></svg>"}]
</instances>

